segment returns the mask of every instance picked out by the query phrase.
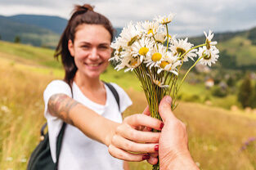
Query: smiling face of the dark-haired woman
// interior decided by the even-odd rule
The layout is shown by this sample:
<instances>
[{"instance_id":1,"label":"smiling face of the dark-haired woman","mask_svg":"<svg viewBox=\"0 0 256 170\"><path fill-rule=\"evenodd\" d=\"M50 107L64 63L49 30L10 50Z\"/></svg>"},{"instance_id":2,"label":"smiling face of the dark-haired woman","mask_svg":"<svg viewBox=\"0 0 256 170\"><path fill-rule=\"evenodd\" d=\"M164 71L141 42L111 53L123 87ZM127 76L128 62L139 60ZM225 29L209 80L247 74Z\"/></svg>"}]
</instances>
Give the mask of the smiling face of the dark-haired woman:
<instances>
[{"instance_id":1,"label":"smiling face of the dark-haired woman","mask_svg":"<svg viewBox=\"0 0 256 170\"><path fill-rule=\"evenodd\" d=\"M69 41L71 56L78 71L88 78L99 78L109 64L111 35L103 25L79 25L74 43Z\"/></svg>"}]
</instances>

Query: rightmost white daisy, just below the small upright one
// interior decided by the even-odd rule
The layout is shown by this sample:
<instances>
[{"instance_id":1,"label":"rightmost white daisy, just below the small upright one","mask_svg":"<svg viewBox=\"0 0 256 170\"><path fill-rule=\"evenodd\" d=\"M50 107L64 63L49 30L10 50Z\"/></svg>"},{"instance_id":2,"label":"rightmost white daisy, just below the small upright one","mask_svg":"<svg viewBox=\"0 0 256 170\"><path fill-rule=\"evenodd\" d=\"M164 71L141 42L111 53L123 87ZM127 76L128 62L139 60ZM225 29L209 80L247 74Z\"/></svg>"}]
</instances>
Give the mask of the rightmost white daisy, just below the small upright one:
<instances>
[{"instance_id":1,"label":"rightmost white daisy, just below the small upright one","mask_svg":"<svg viewBox=\"0 0 256 170\"><path fill-rule=\"evenodd\" d=\"M199 51L196 52L199 57L203 56L200 59L200 63L204 65L211 66L212 63L215 64L215 62L218 60L218 49L216 47L211 47L209 50L206 46L200 47Z\"/></svg>"}]
</instances>

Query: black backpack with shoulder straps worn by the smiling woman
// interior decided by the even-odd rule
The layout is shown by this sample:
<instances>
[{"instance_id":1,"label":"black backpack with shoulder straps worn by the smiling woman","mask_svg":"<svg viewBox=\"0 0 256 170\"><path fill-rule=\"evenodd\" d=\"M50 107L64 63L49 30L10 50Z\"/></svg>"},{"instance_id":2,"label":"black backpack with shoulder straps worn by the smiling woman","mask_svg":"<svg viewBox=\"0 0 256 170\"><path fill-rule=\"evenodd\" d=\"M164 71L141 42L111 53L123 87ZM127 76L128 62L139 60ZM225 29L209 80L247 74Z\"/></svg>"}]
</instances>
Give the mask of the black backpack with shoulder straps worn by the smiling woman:
<instances>
[{"instance_id":1,"label":"black backpack with shoulder straps worn by the smiling woman","mask_svg":"<svg viewBox=\"0 0 256 170\"><path fill-rule=\"evenodd\" d=\"M115 96L115 100L117 104L119 105L119 94L116 92L115 87L113 87L110 83L106 83L107 87L110 88L110 91ZM120 105L119 105L120 110ZM65 126L66 123L63 123L61 127L61 131L59 132L59 135L57 137L56 142L56 163L53 163L51 150L50 150L50 142L49 142L49 136L48 132L44 133L44 129L46 128L47 123L43 125L41 128L41 141L37 145L37 147L32 152L30 158L27 170L56 170L58 167L59 157L61 153L61 143L63 139L63 135L65 132Z\"/></svg>"}]
</instances>

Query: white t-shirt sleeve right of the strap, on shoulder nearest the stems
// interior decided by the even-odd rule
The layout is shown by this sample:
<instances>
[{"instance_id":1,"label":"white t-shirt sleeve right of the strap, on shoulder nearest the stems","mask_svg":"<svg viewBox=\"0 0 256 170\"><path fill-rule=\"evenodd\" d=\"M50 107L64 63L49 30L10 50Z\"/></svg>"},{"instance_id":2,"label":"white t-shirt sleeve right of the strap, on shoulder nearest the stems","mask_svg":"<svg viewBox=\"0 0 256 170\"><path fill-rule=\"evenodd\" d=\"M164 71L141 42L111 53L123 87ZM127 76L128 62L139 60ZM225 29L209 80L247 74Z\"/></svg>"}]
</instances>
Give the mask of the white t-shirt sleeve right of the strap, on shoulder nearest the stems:
<instances>
[{"instance_id":1,"label":"white t-shirt sleeve right of the strap, on shoulder nearest the stems","mask_svg":"<svg viewBox=\"0 0 256 170\"><path fill-rule=\"evenodd\" d=\"M120 102L120 111L121 113L124 112L128 108L128 106L132 105L132 100L128 96L126 92L124 92L124 89L119 87L119 85L115 83L111 83L113 87L115 87L115 90L119 93L119 102Z\"/></svg>"}]
</instances>

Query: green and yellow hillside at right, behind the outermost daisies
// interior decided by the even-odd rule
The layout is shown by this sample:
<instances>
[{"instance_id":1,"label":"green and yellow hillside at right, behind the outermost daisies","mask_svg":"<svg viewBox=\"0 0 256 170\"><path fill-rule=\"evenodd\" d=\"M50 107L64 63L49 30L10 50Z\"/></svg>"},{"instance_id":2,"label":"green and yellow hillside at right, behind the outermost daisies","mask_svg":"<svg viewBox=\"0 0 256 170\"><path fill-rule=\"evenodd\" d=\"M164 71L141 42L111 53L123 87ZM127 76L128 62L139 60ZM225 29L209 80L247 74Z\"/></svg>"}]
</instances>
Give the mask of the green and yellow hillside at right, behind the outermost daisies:
<instances>
[{"instance_id":1,"label":"green and yellow hillside at right, behind the outermost daisies","mask_svg":"<svg viewBox=\"0 0 256 170\"><path fill-rule=\"evenodd\" d=\"M189 41L199 44L205 41L205 37L189 38ZM218 41L222 67L256 70L256 27L245 31L217 33L213 41Z\"/></svg>"}]
</instances>

